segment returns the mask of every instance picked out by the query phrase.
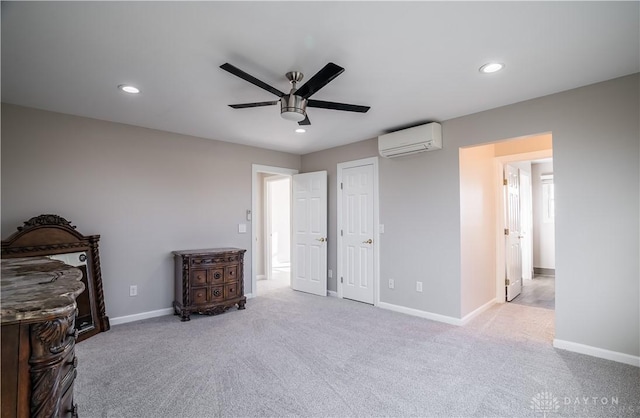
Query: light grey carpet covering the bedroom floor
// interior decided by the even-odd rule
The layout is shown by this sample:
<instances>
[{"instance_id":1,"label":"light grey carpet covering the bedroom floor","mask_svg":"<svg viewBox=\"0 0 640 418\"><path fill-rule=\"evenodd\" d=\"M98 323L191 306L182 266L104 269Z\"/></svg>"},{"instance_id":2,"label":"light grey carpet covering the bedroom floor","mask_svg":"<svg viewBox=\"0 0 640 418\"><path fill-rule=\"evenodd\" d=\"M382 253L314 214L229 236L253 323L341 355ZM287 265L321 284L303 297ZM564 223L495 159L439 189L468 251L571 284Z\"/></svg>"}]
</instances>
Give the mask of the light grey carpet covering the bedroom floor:
<instances>
[{"instance_id":1,"label":"light grey carpet covering the bedroom floor","mask_svg":"<svg viewBox=\"0 0 640 418\"><path fill-rule=\"evenodd\" d=\"M638 368L552 338L548 309L456 327L283 288L79 343L75 397L84 418L638 416Z\"/></svg>"}]
</instances>

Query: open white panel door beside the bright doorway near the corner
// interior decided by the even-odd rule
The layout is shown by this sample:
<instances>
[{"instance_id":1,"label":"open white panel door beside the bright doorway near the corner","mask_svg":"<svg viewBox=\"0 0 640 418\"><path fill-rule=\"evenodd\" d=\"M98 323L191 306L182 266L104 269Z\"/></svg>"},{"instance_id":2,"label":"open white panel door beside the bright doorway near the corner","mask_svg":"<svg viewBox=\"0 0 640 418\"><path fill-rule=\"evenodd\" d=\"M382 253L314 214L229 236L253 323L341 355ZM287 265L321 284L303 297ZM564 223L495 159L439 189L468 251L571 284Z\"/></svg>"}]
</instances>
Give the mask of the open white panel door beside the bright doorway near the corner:
<instances>
[{"instance_id":1,"label":"open white panel door beside the bright doorway near the corner","mask_svg":"<svg viewBox=\"0 0 640 418\"><path fill-rule=\"evenodd\" d=\"M292 180L292 287L327 296L327 172Z\"/></svg>"}]
</instances>

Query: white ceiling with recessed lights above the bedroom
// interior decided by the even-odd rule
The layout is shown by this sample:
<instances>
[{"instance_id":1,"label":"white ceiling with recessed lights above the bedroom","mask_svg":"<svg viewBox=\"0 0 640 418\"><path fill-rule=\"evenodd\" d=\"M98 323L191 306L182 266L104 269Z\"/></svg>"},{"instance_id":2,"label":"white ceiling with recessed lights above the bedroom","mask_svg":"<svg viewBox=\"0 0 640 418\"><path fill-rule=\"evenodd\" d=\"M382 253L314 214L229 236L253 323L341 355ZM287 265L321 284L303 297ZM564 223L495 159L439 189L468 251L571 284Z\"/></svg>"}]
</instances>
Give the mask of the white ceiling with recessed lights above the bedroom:
<instances>
[{"instance_id":1,"label":"white ceiling with recessed lights above the bedroom","mask_svg":"<svg viewBox=\"0 0 640 418\"><path fill-rule=\"evenodd\" d=\"M305 154L640 71L633 2L2 2L2 101ZM483 75L485 62L504 62ZM328 62L296 134L276 96ZM304 81L303 80L303 83ZM116 86L131 83L142 93Z\"/></svg>"}]
</instances>

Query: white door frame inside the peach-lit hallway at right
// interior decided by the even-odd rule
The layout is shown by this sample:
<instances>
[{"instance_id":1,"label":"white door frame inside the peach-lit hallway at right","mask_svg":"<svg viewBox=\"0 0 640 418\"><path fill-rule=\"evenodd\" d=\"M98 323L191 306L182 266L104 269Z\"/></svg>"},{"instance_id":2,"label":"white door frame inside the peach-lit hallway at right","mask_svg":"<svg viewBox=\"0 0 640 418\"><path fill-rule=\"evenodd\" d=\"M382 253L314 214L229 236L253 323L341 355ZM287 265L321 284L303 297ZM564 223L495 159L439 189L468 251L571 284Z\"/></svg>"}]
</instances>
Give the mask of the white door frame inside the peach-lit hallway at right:
<instances>
[{"instance_id":1,"label":"white door frame inside the peach-lit hallway at right","mask_svg":"<svg viewBox=\"0 0 640 418\"><path fill-rule=\"evenodd\" d=\"M552 158L553 149L525 152L521 154L511 154L502 157L494 158L495 174L494 178L496 184L502 185L502 179L504 176L504 167L509 163L515 163L518 161L538 160L542 158ZM504 229L505 225L505 203L504 203L504 190L502 186L496 187L495 194L496 202L496 302L506 303L505 297L505 245L504 245Z\"/></svg>"}]
</instances>

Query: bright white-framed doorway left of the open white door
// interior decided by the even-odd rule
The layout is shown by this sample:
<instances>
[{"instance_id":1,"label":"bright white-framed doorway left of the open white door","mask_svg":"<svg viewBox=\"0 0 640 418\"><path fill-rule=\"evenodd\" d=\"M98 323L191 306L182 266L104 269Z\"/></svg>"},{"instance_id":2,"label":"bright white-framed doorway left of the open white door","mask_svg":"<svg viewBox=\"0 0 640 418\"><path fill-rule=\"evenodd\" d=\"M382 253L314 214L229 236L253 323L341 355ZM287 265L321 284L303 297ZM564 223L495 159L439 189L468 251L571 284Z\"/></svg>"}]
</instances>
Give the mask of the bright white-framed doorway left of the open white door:
<instances>
[{"instance_id":1,"label":"bright white-framed doorway left of the open white door","mask_svg":"<svg viewBox=\"0 0 640 418\"><path fill-rule=\"evenodd\" d=\"M245 279L247 297L258 296L258 294L272 288L290 286L290 282L286 282L285 278L287 263L290 268L288 256L291 252L287 250L287 245L289 245L291 233L289 232L288 237L283 234L286 235L287 228L289 231L291 229L291 176L297 173L298 170L290 168L258 164L252 166L251 291L249 292L247 289L247 280ZM273 185L270 186L271 183ZM286 194L286 197L283 197L283 193ZM267 205L267 199L272 200L270 205ZM286 215L287 213L289 215ZM270 236L273 231L277 235L275 245ZM268 279L269 276L271 276L271 280ZM258 286L259 282L260 286Z\"/></svg>"}]
</instances>

